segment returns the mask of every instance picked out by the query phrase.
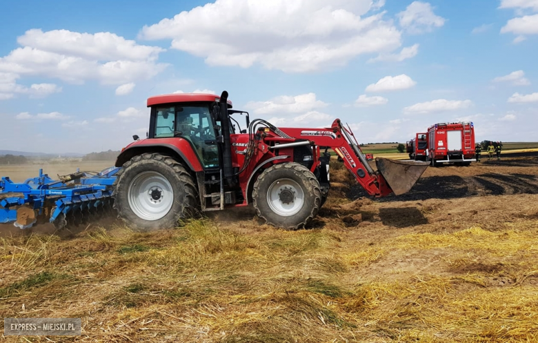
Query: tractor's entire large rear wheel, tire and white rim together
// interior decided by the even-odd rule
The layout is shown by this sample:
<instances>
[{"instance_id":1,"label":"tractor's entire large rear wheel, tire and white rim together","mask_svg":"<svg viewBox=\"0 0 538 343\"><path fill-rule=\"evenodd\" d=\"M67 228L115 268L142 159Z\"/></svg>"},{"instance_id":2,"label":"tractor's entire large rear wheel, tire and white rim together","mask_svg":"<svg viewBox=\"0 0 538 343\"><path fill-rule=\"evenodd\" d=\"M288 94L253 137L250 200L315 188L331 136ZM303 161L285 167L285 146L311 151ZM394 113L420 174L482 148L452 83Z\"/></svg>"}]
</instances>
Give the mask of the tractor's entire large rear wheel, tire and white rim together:
<instances>
[{"instance_id":1,"label":"tractor's entire large rear wheel, tire and white rim together","mask_svg":"<svg viewBox=\"0 0 538 343\"><path fill-rule=\"evenodd\" d=\"M175 228L197 210L197 188L172 157L146 153L123 164L114 182L114 208L136 231Z\"/></svg>"}]
</instances>

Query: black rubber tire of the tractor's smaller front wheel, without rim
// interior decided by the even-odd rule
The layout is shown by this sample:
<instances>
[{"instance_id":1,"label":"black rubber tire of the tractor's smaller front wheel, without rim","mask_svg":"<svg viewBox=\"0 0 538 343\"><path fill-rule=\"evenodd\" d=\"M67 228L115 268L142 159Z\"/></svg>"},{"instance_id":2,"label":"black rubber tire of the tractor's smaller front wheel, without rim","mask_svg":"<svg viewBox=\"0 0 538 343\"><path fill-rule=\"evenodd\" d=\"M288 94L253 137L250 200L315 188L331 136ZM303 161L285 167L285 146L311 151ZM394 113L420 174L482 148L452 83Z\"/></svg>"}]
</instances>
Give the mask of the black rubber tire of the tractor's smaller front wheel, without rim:
<instances>
[{"instance_id":1,"label":"black rubber tire of the tractor's smaller front wheel, without rim","mask_svg":"<svg viewBox=\"0 0 538 343\"><path fill-rule=\"evenodd\" d=\"M299 212L293 215L279 215L268 204L270 187L281 179L292 180L303 192L303 205ZM264 170L252 190L252 200L258 216L267 224L287 230L304 228L317 215L321 207L321 197L321 188L315 175L301 164L292 162L276 164Z\"/></svg>"}]
</instances>

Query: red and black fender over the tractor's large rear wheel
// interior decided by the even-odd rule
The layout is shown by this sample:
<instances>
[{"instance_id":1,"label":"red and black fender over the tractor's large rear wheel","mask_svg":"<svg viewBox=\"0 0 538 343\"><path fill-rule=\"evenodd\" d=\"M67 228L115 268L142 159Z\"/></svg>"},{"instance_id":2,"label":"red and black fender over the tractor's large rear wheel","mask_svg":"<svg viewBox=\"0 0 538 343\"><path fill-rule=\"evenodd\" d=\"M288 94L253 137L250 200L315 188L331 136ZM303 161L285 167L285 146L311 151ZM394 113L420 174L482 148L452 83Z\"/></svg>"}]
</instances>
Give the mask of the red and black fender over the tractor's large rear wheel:
<instances>
[{"instance_id":1,"label":"red and black fender over the tractor's large rear wheel","mask_svg":"<svg viewBox=\"0 0 538 343\"><path fill-rule=\"evenodd\" d=\"M183 166L187 166L193 172L199 172L203 170L198 156L187 142L185 146L181 146L181 149L178 146L166 143L132 144L119 154L116 159L115 166L121 167L124 163L126 163L126 161L129 161L132 157L141 155L143 153L160 153L162 155L176 157L179 162L183 164Z\"/></svg>"}]
</instances>

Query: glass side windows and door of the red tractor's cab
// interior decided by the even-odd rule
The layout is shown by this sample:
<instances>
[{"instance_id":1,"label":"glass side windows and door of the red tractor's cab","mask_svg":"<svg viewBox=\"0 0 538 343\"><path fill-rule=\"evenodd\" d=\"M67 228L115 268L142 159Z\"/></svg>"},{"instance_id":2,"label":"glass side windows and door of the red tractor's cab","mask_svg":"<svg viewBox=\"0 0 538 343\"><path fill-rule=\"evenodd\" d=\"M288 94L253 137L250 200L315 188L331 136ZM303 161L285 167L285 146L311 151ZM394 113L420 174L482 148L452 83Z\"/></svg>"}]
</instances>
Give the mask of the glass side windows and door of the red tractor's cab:
<instances>
[{"instance_id":1,"label":"glass side windows and door of the red tractor's cab","mask_svg":"<svg viewBox=\"0 0 538 343\"><path fill-rule=\"evenodd\" d=\"M205 168L218 168L219 166L215 130L207 105L157 108L154 137L186 139L195 149Z\"/></svg>"}]
</instances>

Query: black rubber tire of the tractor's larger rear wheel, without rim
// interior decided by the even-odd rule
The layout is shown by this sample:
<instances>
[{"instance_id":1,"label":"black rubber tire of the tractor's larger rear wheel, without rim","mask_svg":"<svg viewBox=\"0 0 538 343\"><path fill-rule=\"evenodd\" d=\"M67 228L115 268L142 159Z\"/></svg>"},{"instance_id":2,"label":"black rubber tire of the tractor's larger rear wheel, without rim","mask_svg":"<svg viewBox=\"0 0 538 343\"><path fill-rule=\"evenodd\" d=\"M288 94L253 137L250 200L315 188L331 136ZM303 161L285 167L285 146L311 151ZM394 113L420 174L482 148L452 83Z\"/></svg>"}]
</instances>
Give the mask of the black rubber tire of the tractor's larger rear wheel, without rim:
<instances>
[{"instance_id":1,"label":"black rubber tire of the tractor's larger rear wheel, without rim","mask_svg":"<svg viewBox=\"0 0 538 343\"><path fill-rule=\"evenodd\" d=\"M159 173L168 180L174 195L168 213L155 220L143 219L133 212L128 198L132 181L137 175L148 171ZM158 153L138 155L123 164L117 173L112 197L118 217L135 231L175 228L179 219L192 217L198 208L198 192L192 176L176 159Z\"/></svg>"}]
</instances>

